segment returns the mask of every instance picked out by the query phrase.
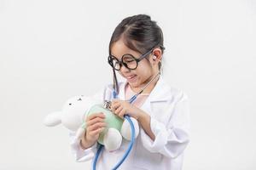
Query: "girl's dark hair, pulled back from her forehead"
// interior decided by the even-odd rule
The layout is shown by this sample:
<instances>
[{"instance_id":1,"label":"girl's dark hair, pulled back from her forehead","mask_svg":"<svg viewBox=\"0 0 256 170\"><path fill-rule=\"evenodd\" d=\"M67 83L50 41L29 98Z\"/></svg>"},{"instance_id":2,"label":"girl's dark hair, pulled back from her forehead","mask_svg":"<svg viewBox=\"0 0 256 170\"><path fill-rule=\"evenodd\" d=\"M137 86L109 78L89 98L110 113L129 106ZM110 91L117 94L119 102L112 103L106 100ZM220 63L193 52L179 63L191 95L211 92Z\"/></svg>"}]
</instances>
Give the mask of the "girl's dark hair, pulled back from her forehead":
<instances>
[{"instance_id":1,"label":"girl's dark hair, pulled back from her forehead","mask_svg":"<svg viewBox=\"0 0 256 170\"><path fill-rule=\"evenodd\" d=\"M116 26L109 42L109 54L111 54L113 42L117 42L121 38L128 48L140 54L145 54L150 49L157 47L161 49L162 54L164 53L163 32L156 21L151 20L147 14L127 17ZM160 67L161 65L159 65L159 69Z\"/></svg>"}]
</instances>

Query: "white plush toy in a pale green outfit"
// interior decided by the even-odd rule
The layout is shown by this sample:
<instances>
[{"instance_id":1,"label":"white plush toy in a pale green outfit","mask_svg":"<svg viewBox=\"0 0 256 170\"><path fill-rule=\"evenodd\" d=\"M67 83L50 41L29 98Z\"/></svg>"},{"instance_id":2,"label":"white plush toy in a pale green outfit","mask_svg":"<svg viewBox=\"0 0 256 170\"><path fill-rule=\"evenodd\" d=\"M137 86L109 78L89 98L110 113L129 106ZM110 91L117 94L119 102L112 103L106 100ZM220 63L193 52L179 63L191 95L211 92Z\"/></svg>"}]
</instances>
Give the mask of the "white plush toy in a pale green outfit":
<instances>
[{"instance_id":1,"label":"white plush toy in a pale green outfit","mask_svg":"<svg viewBox=\"0 0 256 170\"><path fill-rule=\"evenodd\" d=\"M52 112L44 118L44 125L53 127L62 124L69 130L77 132L76 138L81 138L81 135L84 134L83 130L86 129L84 120L87 116L98 112L102 112L105 115L104 121L107 124L98 139L98 142L103 144L106 150L119 149L122 143L122 136L127 140L131 140L131 126L127 120L114 115L102 105L102 102L83 95L68 99L62 107L62 111ZM133 117L131 117L131 121L135 127L135 138L137 138L139 133L138 122Z\"/></svg>"}]
</instances>

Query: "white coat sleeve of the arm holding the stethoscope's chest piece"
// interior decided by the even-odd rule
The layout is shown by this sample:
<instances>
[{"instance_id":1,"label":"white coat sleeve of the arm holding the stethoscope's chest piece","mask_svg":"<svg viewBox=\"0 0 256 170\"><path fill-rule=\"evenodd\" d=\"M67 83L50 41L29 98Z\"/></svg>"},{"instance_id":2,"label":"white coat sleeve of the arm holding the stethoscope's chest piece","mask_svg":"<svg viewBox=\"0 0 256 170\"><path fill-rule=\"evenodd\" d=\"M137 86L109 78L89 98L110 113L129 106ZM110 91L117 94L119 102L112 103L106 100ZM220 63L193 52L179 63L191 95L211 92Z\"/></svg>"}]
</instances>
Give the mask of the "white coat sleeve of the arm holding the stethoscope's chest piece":
<instances>
[{"instance_id":1,"label":"white coat sleeve of the arm holding the stethoscope's chest piece","mask_svg":"<svg viewBox=\"0 0 256 170\"><path fill-rule=\"evenodd\" d=\"M185 94L178 99L174 108L167 110L172 114L168 124L151 117L150 127L154 133L154 141L142 129L143 146L150 152L160 153L175 158L183 153L189 143L189 100Z\"/></svg>"}]
</instances>

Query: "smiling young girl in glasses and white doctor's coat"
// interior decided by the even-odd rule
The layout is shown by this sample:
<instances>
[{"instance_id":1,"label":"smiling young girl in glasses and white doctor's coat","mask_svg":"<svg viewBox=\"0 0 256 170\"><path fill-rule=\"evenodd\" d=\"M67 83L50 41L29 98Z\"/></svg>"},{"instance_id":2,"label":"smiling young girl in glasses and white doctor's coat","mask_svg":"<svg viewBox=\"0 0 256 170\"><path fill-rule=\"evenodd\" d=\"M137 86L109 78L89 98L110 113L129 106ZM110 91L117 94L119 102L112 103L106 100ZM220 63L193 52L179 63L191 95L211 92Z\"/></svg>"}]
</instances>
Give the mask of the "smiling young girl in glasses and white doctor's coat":
<instances>
[{"instance_id":1,"label":"smiling young girl in glasses and white doctor's coat","mask_svg":"<svg viewBox=\"0 0 256 170\"><path fill-rule=\"evenodd\" d=\"M113 85L96 94L97 99L111 99L114 114L134 117L140 132L119 169L180 170L183 152L189 143L189 101L182 91L171 88L159 75L164 52L163 34L148 15L138 14L122 20L113 31L109 43L108 63L125 78L115 84L118 99L113 99ZM156 77L156 78L154 78ZM152 82L150 82L153 80ZM127 102L139 94L134 103ZM77 140L70 133L71 145L77 161L91 160L96 155L99 133L106 127L104 115L97 113L85 120L84 138ZM130 141L123 139L119 150L103 150L96 169L112 169L122 158Z\"/></svg>"}]
</instances>

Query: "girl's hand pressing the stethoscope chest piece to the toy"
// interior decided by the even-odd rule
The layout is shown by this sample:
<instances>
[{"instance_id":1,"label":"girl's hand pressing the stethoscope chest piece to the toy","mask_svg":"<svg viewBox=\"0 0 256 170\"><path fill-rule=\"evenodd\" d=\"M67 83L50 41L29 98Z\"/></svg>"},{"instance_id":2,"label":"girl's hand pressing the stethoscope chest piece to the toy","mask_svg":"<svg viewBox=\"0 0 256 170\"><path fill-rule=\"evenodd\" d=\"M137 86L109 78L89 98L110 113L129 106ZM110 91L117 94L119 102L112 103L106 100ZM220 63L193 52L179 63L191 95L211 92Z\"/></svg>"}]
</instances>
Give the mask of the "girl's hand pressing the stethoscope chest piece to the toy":
<instances>
[{"instance_id":1,"label":"girl's hand pressing the stethoscope chest piece to the toy","mask_svg":"<svg viewBox=\"0 0 256 170\"><path fill-rule=\"evenodd\" d=\"M125 100L113 99L111 104L111 111L121 118L124 118L125 115L129 115L138 119L141 110L134 105L131 105L129 102Z\"/></svg>"}]
</instances>

